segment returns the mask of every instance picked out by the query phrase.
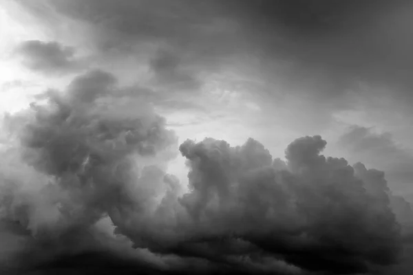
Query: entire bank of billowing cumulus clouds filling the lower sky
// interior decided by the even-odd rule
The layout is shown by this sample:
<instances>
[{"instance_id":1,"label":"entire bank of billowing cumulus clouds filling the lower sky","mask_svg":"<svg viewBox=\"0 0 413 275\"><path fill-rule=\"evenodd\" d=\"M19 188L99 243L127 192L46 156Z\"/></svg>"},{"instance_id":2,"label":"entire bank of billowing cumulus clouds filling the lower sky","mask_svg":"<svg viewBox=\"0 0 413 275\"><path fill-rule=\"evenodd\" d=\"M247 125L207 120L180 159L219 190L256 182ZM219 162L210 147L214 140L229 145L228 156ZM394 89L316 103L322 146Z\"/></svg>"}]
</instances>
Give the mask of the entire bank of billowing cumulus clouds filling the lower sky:
<instances>
[{"instance_id":1,"label":"entire bank of billowing cumulus clouds filling the lower sky","mask_svg":"<svg viewBox=\"0 0 413 275\"><path fill-rule=\"evenodd\" d=\"M285 160L253 139L187 140L186 190L165 172L178 153L165 119L107 72L4 123L1 226L25 239L3 252L13 272L97 261L149 274L356 274L401 255L410 205L394 202L383 172L322 155L319 135L291 142Z\"/></svg>"}]
</instances>

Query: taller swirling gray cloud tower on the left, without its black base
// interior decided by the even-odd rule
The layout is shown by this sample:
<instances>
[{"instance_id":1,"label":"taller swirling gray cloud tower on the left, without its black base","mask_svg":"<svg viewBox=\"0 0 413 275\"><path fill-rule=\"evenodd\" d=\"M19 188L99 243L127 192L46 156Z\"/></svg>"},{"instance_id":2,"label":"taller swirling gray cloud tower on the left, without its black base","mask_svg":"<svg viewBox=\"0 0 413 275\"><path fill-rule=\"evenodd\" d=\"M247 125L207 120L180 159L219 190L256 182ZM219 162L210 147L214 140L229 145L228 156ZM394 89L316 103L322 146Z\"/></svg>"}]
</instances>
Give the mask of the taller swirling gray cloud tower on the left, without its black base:
<instances>
[{"instance_id":1,"label":"taller swirling gray cloud tower on the left, without its black base","mask_svg":"<svg viewBox=\"0 0 413 275\"><path fill-rule=\"evenodd\" d=\"M176 137L149 106L125 101L116 91L114 76L87 72L64 93L47 91L45 102L6 119L10 138L18 138L3 148L8 156L1 179L6 218L37 238L59 240L70 228L87 230L107 215L116 193L131 188L118 185L122 180L116 178L139 162L149 165L142 180L162 181L164 173L150 164L173 156L167 148Z\"/></svg>"}]
</instances>

